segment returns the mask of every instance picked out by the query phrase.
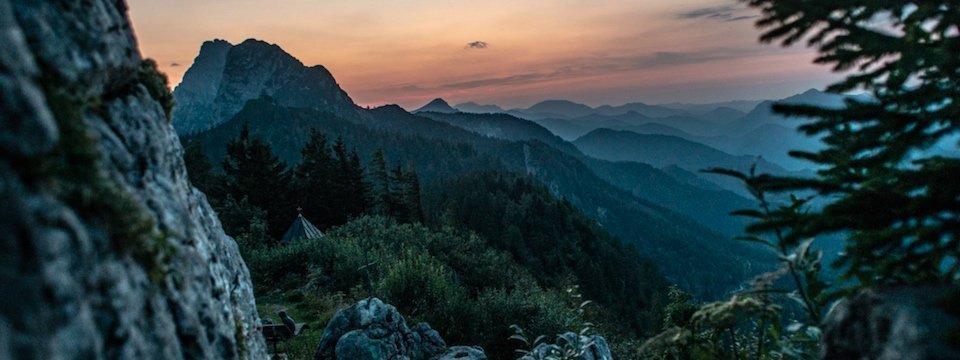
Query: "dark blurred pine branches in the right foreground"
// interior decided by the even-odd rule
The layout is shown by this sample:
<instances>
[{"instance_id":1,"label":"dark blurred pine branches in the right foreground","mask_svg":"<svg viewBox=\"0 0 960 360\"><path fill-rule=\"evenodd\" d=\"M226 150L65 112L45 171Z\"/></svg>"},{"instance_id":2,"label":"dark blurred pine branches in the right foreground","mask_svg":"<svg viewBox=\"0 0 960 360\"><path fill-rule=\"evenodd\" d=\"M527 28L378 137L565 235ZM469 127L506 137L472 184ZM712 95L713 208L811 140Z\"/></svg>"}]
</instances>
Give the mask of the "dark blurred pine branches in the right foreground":
<instances>
[{"instance_id":1,"label":"dark blurred pine branches in the right foreground","mask_svg":"<svg viewBox=\"0 0 960 360\"><path fill-rule=\"evenodd\" d=\"M814 190L828 204L774 212L753 227L786 227L785 241L842 232L838 265L861 284L960 281L960 3L956 1L750 0L764 42L807 39L815 62L851 71L827 90L866 90L842 109L777 105L813 120L801 127L826 148L793 153L815 162L815 179L754 176L766 190ZM743 174L740 174L742 176Z\"/></svg>"}]
</instances>

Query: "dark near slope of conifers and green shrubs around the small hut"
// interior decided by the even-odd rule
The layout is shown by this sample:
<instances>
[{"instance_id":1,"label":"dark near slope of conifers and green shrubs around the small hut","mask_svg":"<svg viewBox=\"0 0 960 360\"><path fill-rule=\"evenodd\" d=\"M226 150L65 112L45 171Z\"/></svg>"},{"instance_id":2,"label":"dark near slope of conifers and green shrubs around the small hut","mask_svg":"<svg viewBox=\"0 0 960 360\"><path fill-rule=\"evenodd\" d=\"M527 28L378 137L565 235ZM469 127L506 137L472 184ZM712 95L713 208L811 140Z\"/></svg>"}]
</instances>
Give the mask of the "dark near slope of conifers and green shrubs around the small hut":
<instances>
[{"instance_id":1,"label":"dark near slope of conifers and green shrubs around the small hut","mask_svg":"<svg viewBox=\"0 0 960 360\"><path fill-rule=\"evenodd\" d=\"M300 162L287 166L241 125L222 173L199 143L188 146L191 181L240 244L261 304L322 321L373 294L500 356L512 352L504 323L542 333L574 326L567 290L579 288L596 304L591 319L623 336L660 323L669 282L658 267L537 180L469 171L424 188L387 151L361 163L342 137L308 136ZM279 243L294 211L328 233Z\"/></svg>"}]
</instances>

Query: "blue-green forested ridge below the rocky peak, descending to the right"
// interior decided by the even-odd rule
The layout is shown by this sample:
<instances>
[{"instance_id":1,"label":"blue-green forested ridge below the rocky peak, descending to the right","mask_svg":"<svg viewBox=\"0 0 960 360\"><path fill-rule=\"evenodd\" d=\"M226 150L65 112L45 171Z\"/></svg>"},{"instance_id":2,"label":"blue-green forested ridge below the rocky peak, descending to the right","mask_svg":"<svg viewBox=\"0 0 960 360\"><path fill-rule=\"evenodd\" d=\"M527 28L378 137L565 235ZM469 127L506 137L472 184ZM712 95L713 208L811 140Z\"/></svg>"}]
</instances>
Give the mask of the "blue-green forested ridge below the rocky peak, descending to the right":
<instances>
[{"instance_id":1,"label":"blue-green forested ridge below the rocky peak, descending to the right","mask_svg":"<svg viewBox=\"0 0 960 360\"><path fill-rule=\"evenodd\" d=\"M383 149L388 162L415 169L425 185L475 171L527 174L635 246L642 256L654 259L671 281L703 296L719 296L736 288L749 274L769 264L769 257L761 251L610 185L576 157L546 144L491 139L397 107L373 109L364 115L364 119L347 120L311 109L286 108L262 98L248 102L230 121L189 141L197 141L217 164L224 151L220 149L246 123L251 134L275 147L281 160L295 163L300 159L298 148L313 128L328 139L341 137L351 149L356 148L365 164L375 150Z\"/></svg>"}]
</instances>

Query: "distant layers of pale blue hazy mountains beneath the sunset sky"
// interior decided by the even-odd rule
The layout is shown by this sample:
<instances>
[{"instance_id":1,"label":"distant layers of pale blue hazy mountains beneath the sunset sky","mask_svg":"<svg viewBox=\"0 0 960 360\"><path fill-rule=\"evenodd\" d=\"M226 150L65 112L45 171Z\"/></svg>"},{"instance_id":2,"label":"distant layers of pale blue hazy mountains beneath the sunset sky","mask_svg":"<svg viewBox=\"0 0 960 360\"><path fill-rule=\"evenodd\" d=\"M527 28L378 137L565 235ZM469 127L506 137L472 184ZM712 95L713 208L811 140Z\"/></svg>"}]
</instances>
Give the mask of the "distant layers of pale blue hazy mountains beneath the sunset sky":
<instances>
[{"instance_id":1,"label":"distant layers of pale blue hazy mountains beneath the sunset sky","mask_svg":"<svg viewBox=\"0 0 960 360\"><path fill-rule=\"evenodd\" d=\"M503 113L534 121L561 138L573 141L596 129L626 130L639 134L680 137L734 156L749 156L776 163L788 170L812 170L809 162L787 155L791 150L816 151L817 139L796 131L802 119L774 114L774 102L835 107L844 96L815 89L779 100L741 100L712 104L629 103L590 107L567 100L546 100L527 108L503 109L497 105L467 102L449 106L467 113ZM445 103L445 102L444 102ZM417 111L431 111L421 108ZM447 110L450 112L450 110Z\"/></svg>"}]
</instances>

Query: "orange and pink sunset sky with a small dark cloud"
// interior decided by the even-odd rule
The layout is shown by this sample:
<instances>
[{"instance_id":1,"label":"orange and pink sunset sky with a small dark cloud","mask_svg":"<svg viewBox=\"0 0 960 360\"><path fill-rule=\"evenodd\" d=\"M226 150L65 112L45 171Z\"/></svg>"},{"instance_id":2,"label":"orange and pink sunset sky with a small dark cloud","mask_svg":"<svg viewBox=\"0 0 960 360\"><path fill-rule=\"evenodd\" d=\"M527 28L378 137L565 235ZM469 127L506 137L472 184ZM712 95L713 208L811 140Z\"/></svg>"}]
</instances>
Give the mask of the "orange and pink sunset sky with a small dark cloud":
<instances>
[{"instance_id":1,"label":"orange and pink sunset sky with a small dark cloud","mask_svg":"<svg viewBox=\"0 0 960 360\"><path fill-rule=\"evenodd\" d=\"M173 85L203 41L276 43L361 105L432 98L525 107L769 99L836 79L757 42L733 0L130 0L144 56Z\"/></svg>"}]
</instances>

